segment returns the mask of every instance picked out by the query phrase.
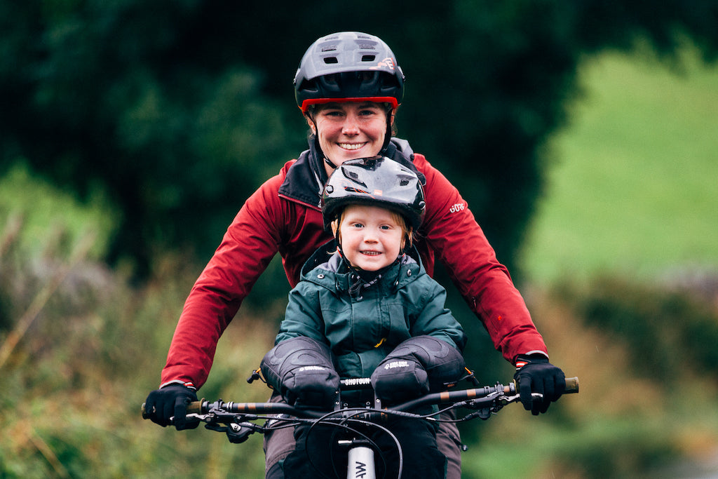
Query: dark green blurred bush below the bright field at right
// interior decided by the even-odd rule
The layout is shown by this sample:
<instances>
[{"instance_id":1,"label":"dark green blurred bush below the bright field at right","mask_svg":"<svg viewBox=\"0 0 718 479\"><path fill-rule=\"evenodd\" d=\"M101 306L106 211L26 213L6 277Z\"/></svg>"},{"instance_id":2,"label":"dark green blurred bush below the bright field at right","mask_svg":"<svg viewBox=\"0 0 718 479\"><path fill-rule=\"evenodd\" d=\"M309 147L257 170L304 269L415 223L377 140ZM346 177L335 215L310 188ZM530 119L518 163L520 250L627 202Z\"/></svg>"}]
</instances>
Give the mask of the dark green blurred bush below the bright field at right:
<instances>
[{"instance_id":1,"label":"dark green blurred bush below the bright field at right","mask_svg":"<svg viewBox=\"0 0 718 479\"><path fill-rule=\"evenodd\" d=\"M715 280L705 279L709 286ZM718 384L718 310L710 296L696 295L700 289L701 284L671 289L599 277L589 287L559 287L559 296L588 327L625 345L636 375L667 387L687 373Z\"/></svg>"}]
</instances>

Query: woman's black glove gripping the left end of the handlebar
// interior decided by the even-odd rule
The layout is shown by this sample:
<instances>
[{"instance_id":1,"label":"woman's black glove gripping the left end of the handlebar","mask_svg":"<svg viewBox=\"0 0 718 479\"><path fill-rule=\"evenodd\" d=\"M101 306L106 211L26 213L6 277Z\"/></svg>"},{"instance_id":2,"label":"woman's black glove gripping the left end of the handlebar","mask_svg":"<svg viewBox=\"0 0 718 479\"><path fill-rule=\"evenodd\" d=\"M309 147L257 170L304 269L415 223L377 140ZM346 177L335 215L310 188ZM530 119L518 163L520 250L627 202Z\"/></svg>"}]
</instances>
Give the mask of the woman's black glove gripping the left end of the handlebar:
<instances>
[{"instance_id":1,"label":"woman's black glove gripping the left end of the handlebar","mask_svg":"<svg viewBox=\"0 0 718 479\"><path fill-rule=\"evenodd\" d=\"M187 421L187 404L197 401L197 392L182 384L168 384L164 388L152 391L144 401L147 416L152 422L162 427L174 424L178 431L182 429L195 429L199 420ZM169 418L174 416L174 421Z\"/></svg>"}]
</instances>

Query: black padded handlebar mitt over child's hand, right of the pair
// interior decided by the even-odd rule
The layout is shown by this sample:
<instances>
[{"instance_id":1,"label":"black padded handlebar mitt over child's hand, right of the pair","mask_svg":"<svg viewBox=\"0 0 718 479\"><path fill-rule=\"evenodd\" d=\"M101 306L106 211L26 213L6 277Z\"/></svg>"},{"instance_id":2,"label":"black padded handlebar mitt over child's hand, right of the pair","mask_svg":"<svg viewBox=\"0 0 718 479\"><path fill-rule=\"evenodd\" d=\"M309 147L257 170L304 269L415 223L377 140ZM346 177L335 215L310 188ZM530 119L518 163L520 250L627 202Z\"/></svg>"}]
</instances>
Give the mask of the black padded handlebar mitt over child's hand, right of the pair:
<instances>
[{"instance_id":1,"label":"black padded handlebar mitt over child's hand, right of the pair","mask_svg":"<svg viewBox=\"0 0 718 479\"><path fill-rule=\"evenodd\" d=\"M432 336L415 336L400 343L371 375L376 396L398 404L459 381L464 358L452 345Z\"/></svg>"}]
</instances>

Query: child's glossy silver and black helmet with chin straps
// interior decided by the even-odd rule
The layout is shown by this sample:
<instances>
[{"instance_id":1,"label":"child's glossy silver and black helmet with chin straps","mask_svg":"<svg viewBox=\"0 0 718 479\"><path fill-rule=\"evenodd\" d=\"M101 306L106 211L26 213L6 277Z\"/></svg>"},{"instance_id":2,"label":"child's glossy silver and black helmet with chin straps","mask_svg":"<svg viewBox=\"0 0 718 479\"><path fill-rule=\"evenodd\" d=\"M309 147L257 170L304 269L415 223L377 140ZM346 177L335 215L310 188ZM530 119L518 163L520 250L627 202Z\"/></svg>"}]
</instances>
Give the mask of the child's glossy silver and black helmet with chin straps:
<instances>
[{"instance_id":1,"label":"child's glossy silver and black helmet with chin straps","mask_svg":"<svg viewBox=\"0 0 718 479\"><path fill-rule=\"evenodd\" d=\"M337 220L334 233L337 249L343 261L355 270L346 260L339 235L342 211L348 205L378 206L401 215L408 230L404 239L409 246L412 233L419 229L426 210L421 180L415 172L393 159L376 156L349 159L340 164L322 190L322 219L327 231L332 230L332 222ZM375 272L370 273L372 276Z\"/></svg>"}]
</instances>

